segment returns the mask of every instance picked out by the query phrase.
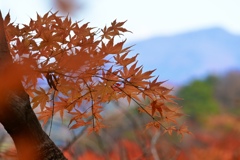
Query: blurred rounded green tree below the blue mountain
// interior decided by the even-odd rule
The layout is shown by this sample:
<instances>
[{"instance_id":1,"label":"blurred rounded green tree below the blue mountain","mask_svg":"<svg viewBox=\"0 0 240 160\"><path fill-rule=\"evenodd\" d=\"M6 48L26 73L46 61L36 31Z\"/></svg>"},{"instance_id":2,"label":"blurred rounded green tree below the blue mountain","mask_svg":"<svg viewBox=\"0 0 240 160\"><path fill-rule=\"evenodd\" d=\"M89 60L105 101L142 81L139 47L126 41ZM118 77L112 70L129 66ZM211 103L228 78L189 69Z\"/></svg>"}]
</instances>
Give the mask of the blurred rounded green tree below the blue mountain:
<instances>
[{"instance_id":1,"label":"blurred rounded green tree below the blue mountain","mask_svg":"<svg viewBox=\"0 0 240 160\"><path fill-rule=\"evenodd\" d=\"M179 104L191 119L201 121L219 113L220 108L214 97L216 81L216 77L209 76L203 81L195 80L177 92L177 96L183 98Z\"/></svg>"}]
</instances>

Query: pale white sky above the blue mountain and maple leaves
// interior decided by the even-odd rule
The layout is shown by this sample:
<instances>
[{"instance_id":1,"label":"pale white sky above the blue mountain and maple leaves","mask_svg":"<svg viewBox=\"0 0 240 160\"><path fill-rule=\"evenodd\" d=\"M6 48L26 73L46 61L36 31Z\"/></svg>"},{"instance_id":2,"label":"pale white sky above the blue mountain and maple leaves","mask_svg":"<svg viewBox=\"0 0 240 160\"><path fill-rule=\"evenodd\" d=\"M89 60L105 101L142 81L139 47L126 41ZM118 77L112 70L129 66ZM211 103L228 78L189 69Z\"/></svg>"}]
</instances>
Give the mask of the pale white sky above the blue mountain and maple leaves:
<instances>
[{"instance_id":1,"label":"pale white sky above the blue mountain and maple leaves","mask_svg":"<svg viewBox=\"0 0 240 160\"><path fill-rule=\"evenodd\" d=\"M53 0L51 0L53 1ZM3 15L10 10L12 20L28 23L36 12L53 8L49 0L0 0ZM83 7L73 17L104 27L113 20L125 21L129 41L168 36L209 27L221 27L240 35L239 0L79 0Z\"/></svg>"}]
</instances>

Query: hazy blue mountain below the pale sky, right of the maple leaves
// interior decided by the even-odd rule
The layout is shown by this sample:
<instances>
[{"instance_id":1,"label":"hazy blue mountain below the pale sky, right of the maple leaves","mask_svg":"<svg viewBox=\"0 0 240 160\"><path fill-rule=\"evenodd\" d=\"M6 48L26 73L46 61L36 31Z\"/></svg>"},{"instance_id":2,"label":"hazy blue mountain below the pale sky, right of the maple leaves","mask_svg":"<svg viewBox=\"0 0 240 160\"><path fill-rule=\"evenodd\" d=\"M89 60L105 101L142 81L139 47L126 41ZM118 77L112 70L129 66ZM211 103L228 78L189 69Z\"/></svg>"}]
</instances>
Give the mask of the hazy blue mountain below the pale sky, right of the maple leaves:
<instances>
[{"instance_id":1,"label":"hazy blue mountain below the pale sky, right of the maple leaves","mask_svg":"<svg viewBox=\"0 0 240 160\"><path fill-rule=\"evenodd\" d=\"M157 69L160 80L181 85L194 78L240 69L240 36L210 28L132 42L145 70ZM133 54L134 53L134 54Z\"/></svg>"}]
</instances>

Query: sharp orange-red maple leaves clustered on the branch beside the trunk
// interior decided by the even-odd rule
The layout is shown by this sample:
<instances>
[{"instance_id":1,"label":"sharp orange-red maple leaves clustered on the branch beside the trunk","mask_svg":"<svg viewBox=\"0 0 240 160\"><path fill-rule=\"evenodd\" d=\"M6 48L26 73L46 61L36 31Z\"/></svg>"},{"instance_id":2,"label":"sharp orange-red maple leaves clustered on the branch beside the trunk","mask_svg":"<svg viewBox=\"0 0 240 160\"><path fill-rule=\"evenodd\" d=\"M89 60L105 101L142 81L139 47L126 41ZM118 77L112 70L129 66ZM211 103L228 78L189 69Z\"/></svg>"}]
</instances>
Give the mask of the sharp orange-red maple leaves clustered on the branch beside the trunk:
<instances>
[{"instance_id":1,"label":"sharp orange-red maple leaves clustered on the branch beside the trunk","mask_svg":"<svg viewBox=\"0 0 240 160\"><path fill-rule=\"evenodd\" d=\"M22 81L32 107L40 108L39 119L44 124L56 113L61 118L68 113L70 128L91 125L89 131L98 132L105 127L103 106L127 99L152 117L148 127L190 133L186 127L172 124L183 114L173 101L171 89L153 79L154 70L143 72L137 55L128 57L131 47L124 47L126 40L114 42L115 37L129 32L124 23L115 20L110 27L97 29L60 17L57 12L42 17L37 14L28 25L15 25L9 14L5 17L11 55L18 72L24 75ZM39 79L49 87L39 86ZM146 99L150 105L143 103Z\"/></svg>"}]
</instances>

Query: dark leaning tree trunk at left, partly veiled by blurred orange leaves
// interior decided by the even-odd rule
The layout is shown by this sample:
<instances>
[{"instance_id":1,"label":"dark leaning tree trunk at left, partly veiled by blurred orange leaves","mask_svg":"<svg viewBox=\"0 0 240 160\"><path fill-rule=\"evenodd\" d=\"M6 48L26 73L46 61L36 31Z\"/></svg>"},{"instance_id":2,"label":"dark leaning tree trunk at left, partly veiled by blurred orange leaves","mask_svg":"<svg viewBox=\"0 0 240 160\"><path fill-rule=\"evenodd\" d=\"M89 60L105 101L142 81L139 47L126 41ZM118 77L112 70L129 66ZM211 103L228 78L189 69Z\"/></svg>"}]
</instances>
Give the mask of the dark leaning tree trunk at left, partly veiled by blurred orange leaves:
<instances>
[{"instance_id":1,"label":"dark leaning tree trunk at left, partly veiled by blurred orange leaves","mask_svg":"<svg viewBox=\"0 0 240 160\"><path fill-rule=\"evenodd\" d=\"M21 74L13 64L0 12L0 123L12 137L20 160L66 159L43 131L33 112Z\"/></svg>"}]
</instances>

